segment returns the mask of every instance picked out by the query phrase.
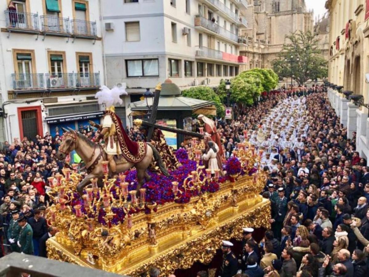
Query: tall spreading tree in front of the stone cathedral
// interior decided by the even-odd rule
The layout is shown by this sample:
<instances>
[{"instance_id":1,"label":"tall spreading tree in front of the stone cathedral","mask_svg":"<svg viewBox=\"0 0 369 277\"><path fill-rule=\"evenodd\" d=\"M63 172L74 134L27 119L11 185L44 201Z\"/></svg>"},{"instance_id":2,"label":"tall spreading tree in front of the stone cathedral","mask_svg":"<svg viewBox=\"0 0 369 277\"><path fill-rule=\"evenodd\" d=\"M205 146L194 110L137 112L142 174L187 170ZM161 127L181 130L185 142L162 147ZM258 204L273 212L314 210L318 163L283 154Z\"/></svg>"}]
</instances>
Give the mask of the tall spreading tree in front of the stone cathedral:
<instances>
[{"instance_id":1,"label":"tall spreading tree in front of the stone cathedral","mask_svg":"<svg viewBox=\"0 0 369 277\"><path fill-rule=\"evenodd\" d=\"M328 61L321 55L319 39L310 31L287 36L287 42L272 65L279 78L292 76L299 85L309 79L328 76Z\"/></svg>"}]
</instances>

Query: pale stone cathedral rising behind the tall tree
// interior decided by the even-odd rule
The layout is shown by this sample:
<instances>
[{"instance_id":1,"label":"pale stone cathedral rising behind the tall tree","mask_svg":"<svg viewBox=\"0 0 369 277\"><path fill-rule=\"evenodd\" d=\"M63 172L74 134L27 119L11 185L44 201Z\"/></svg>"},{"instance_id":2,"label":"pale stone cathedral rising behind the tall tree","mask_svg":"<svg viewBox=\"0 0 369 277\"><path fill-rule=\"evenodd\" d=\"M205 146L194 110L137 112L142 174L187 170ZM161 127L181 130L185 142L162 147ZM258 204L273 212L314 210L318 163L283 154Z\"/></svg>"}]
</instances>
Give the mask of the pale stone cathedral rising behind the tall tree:
<instances>
[{"instance_id":1,"label":"pale stone cathedral rising behind the tall tree","mask_svg":"<svg viewBox=\"0 0 369 277\"><path fill-rule=\"evenodd\" d=\"M287 35L314 28L313 11L306 10L304 0L254 0L245 15L249 27L241 32L247 44L240 49L248 58L244 70L272 67Z\"/></svg>"}]
</instances>

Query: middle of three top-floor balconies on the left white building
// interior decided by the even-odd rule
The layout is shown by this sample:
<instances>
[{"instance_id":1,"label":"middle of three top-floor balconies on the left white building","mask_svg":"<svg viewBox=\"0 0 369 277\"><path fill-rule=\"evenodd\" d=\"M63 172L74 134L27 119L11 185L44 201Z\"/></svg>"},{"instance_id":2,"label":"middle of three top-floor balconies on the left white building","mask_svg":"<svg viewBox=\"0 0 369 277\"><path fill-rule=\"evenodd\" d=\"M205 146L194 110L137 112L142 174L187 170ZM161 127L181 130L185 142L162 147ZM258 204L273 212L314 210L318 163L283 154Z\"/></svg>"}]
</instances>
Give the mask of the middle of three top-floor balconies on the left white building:
<instances>
[{"instance_id":1,"label":"middle of three top-floor balconies on the left white building","mask_svg":"<svg viewBox=\"0 0 369 277\"><path fill-rule=\"evenodd\" d=\"M41 15L41 31L46 34L54 34L61 36L70 35L70 21L69 18Z\"/></svg>"}]
</instances>

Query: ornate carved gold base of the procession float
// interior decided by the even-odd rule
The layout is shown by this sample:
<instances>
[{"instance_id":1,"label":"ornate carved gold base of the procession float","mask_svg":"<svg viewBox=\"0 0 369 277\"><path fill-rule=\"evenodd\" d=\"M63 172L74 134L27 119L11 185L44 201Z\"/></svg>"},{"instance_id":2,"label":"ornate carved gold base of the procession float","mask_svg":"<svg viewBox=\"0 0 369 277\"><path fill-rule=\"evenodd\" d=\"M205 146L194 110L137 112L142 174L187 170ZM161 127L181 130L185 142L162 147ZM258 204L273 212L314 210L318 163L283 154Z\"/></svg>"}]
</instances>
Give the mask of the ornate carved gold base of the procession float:
<instances>
[{"instance_id":1,"label":"ornate carved gold base of the procession float","mask_svg":"<svg viewBox=\"0 0 369 277\"><path fill-rule=\"evenodd\" d=\"M77 255L75 242L66 232L48 240L48 256L129 276L138 276L153 266L168 276L176 269L190 268L194 262L208 264L221 240L241 239L242 227L270 228L270 202L257 194L265 184L260 177L257 181L251 176L241 177L187 204L167 203L158 206L155 213L137 215L128 232L130 243L114 257L99 256L99 249L86 246ZM232 197L235 192L236 198ZM150 222L157 228L155 243L148 236Z\"/></svg>"}]
</instances>

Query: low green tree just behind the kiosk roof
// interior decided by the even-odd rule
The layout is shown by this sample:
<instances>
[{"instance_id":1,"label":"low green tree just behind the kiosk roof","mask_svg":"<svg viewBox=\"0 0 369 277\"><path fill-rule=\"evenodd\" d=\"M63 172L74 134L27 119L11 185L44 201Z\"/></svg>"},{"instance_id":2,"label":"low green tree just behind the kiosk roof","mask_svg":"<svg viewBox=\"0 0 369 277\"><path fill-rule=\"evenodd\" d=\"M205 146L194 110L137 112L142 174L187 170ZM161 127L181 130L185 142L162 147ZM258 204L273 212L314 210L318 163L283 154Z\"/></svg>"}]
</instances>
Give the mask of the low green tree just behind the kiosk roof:
<instances>
[{"instance_id":1,"label":"low green tree just behind the kiosk roof","mask_svg":"<svg viewBox=\"0 0 369 277\"><path fill-rule=\"evenodd\" d=\"M217 108L217 116L224 117L224 105L213 89L206 86L192 87L182 91L182 96L200 100L213 101Z\"/></svg>"}]
</instances>

